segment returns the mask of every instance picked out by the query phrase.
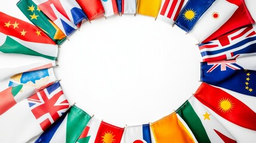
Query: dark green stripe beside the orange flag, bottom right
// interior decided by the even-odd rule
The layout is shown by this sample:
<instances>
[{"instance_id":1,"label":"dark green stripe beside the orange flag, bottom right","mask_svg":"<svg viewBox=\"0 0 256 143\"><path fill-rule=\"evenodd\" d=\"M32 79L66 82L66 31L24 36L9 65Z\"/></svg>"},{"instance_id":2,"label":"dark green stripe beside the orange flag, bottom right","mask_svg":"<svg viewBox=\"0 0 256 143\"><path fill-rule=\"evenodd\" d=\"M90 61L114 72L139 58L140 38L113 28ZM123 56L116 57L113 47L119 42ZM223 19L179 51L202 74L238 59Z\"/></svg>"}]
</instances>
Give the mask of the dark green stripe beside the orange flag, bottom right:
<instances>
[{"instance_id":1,"label":"dark green stripe beside the orange flag, bottom right","mask_svg":"<svg viewBox=\"0 0 256 143\"><path fill-rule=\"evenodd\" d=\"M176 112L187 123L187 126L189 126L198 142L211 142L201 120L199 119L189 101L184 102L184 104L181 105L181 107L178 108Z\"/></svg>"}]
</instances>

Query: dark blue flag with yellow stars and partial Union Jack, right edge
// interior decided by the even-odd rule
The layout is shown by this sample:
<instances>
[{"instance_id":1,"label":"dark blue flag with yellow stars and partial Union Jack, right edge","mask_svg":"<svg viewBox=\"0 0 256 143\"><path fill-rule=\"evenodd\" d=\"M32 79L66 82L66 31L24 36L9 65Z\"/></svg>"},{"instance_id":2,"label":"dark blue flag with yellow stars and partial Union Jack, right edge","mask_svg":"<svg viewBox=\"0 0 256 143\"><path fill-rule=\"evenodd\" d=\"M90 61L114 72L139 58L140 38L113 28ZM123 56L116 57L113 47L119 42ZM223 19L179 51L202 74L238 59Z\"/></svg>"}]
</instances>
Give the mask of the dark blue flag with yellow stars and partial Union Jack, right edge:
<instances>
[{"instance_id":1,"label":"dark blue flag with yellow stars and partial Union Jack, right edge","mask_svg":"<svg viewBox=\"0 0 256 143\"><path fill-rule=\"evenodd\" d=\"M256 71L244 70L238 64L228 62L229 60L226 63L201 63L201 81L256 97Z\"/></svg>"}]
</instances>

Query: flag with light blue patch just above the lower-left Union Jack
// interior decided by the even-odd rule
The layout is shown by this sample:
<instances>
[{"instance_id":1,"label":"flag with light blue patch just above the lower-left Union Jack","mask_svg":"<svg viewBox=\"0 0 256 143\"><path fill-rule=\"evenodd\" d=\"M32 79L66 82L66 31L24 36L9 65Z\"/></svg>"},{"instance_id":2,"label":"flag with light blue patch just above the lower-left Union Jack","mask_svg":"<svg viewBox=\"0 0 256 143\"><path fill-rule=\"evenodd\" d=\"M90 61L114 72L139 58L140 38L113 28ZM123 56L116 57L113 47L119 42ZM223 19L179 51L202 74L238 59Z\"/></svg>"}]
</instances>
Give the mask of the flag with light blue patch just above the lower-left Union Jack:
<instances>
[{"instance_id":1,"label":"flag with light blue patch just above the lower-left Union Jack","mask_svg":"<svg viewBox=\"0 0 256 143\"><path fill-rule=\"evenodd\" d=\"M28 71L10 77L9 85L3 85L7 88L0 92L0 115L56 80L53 68Z\"/></svg>"}]
</instances>

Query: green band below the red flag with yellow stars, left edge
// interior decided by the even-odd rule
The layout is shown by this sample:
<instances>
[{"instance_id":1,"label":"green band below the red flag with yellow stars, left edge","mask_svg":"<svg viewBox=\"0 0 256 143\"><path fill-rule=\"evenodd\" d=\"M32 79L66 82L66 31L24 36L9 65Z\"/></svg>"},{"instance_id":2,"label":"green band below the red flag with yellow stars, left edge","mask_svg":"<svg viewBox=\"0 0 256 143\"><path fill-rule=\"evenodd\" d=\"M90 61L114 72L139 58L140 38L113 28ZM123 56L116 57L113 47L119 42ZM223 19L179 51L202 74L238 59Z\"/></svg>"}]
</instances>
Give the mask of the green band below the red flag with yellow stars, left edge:
<instances>
[{"instance_id":1,"label":"green band below the red flag with yellow stars, left edge","mask_svg":"<svg viewBox=\"0 0 256 143\"><path fill-rule=\"evenodd\" d=\"M0 46L0 52L4 53L15 53L15 54L25 54L25 55L35 55L50 60L56 60L56 57L51 57L48 55L40 54L39 52L33 51L32 49L27 48L26 46L21 45L14 39L7 36L3 45Z\"/></svg>"}]
</instances>

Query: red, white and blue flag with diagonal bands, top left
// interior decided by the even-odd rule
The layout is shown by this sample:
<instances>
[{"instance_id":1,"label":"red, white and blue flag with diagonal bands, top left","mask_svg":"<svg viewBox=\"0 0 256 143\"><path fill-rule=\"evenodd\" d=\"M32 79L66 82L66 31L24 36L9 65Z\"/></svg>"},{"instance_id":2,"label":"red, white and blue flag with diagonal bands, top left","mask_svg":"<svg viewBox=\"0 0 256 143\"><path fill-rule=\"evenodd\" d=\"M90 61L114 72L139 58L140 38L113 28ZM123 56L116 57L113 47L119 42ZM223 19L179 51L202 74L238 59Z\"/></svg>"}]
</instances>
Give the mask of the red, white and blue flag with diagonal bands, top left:
<instances>
[{"instance_id":1,"label":"red, white and blue flag with diagonal bands, top left","mask_svg":"<svg viewBox=\"0 0 256 143\"><path fill-rule=\"evenodd\" d=\"M76 5L77 7L70 5L75 4L75 2L72 1L60 2L60 0L33 0L33 2L38 5L39 9L42 10L66 36L75 32L77 29L76 24L80 23L81 20L85 18L85 14L80 11L81 8L78 8L78 5ZM67 11L69 12L67 13Z\"/></svg>"}]
</instances>

